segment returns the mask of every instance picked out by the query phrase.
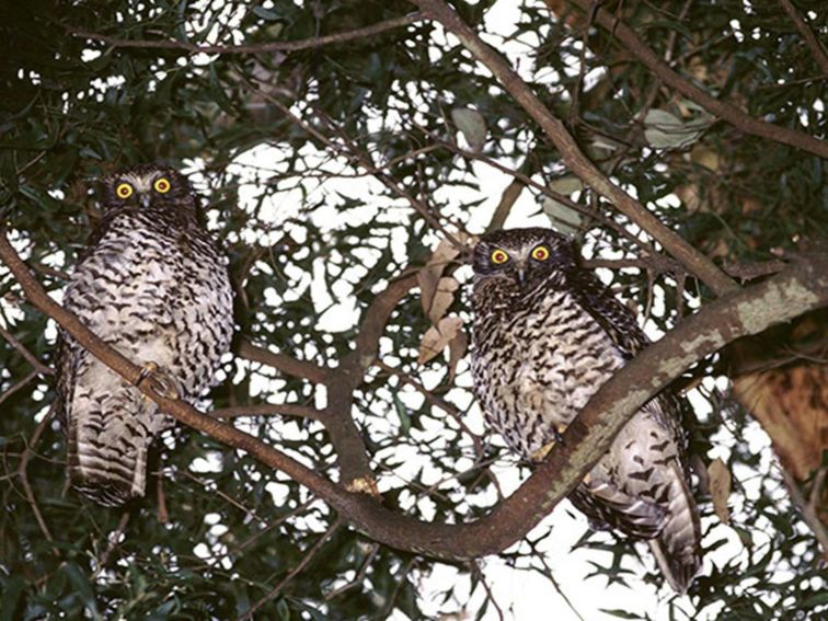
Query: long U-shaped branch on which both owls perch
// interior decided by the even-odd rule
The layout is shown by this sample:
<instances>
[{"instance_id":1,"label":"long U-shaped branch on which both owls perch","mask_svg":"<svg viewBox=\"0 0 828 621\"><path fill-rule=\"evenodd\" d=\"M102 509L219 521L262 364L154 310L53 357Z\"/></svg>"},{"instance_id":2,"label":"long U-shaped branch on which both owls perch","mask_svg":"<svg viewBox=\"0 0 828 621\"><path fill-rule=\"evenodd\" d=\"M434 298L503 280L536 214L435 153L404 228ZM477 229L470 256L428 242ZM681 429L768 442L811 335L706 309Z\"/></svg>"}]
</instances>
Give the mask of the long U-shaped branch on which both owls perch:
<instances>
[{"instance_id":1,"label":"long U-shaped branch on which both owls perch","mask_svg":"<svg viewBox=\"0 0 828 621\"><path fill-rule=\"evenodd\" d=\"M4 235L0 260L26 298L92 355L135 383L140 368L110 347L72 313L56 303L32 276ZM439 559L468 560L497 553L522 538L589 472L626 421L687 368L741 336L828 306L828 256L804 258L769 280L723 296L685 320L607 382L564 434L564 441L521 487L490 515L464 525L422 522L380 507L320 476L283 452L182 401L140 390L163 412L262 463L285 472L324 498L368 537L402 550Z\"/></svg>"}]
</instances>

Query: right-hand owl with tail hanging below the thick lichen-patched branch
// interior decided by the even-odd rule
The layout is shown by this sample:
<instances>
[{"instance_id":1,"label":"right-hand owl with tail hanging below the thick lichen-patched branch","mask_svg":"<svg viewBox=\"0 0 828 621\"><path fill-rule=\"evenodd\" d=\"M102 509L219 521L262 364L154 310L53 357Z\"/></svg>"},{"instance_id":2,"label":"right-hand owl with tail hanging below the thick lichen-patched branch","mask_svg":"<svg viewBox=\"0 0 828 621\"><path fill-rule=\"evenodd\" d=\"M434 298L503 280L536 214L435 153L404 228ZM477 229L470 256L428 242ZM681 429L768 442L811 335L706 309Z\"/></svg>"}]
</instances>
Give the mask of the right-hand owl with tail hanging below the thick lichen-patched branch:
<instances>
[{"instance_id":1,"label":"right-hand owl with tail hanging below the thick lichen-patched branch","mask_svg":"<svg viewBox=\"0 0 828 621\"><path fill-rule=\"evenodd\" d=\"M510 450L539 461L648 341L552 230L484 235L473 264L474 394ZM679 412L669 391L649 401L570 499L594 528L646 540L667 582L685 593L700 568L701 532Z\"/></svg>"}]
</instances>

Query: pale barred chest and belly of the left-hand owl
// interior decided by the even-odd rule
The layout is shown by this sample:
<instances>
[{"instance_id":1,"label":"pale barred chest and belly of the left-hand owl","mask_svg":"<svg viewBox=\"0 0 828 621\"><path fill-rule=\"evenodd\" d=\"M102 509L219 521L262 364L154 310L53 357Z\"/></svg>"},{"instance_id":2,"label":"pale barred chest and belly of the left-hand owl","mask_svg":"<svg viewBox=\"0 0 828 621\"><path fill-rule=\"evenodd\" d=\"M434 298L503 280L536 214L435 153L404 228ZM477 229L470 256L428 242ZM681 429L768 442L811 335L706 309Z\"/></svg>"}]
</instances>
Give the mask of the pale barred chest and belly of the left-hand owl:
<instances>
[{"instance_id":1,"label":"pale barred chest and belly of the left-hand owl","mask_svg":"<svg viewBox=\"0 0 828 621\"><path fill-rule=\"evenodd\" d=\"M168 369L186 398L209 386L232 337L230 283L209 238L148 214L111 223L74 271L66 304L122 353Z\"/></svg>"}]
</instances>

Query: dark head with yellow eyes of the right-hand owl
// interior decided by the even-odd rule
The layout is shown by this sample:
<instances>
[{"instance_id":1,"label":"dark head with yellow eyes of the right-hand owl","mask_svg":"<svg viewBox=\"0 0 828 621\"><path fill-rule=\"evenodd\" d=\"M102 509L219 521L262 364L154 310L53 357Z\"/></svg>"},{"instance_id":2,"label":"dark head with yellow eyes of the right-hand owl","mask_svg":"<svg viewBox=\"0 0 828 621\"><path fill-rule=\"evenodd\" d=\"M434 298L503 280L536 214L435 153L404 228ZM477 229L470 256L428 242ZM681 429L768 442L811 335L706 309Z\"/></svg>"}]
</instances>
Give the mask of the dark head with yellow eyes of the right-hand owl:
<instances>
[{"instance_id":1,"label":"dark head with yellow eyes of the right-hand owl","mask_svg":"<svg viewBox=\"0 0 828 621\"><path fill-rule=\"evenodd\" d=\"M576 264L572 242L552 229L528 228L494 231L474 246L474 279L508 280L528 289L555 272Z\"/></svg>"}]
</instances>

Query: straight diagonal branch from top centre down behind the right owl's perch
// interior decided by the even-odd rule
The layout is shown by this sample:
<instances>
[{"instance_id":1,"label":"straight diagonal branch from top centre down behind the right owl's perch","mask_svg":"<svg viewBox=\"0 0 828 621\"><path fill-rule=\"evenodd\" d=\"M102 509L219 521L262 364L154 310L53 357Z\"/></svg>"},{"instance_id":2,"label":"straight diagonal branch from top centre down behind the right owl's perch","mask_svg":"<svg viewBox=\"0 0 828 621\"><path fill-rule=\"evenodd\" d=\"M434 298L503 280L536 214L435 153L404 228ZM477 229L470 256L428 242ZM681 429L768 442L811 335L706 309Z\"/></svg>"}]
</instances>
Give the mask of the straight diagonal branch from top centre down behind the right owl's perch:
<instances>
[{"instance_id":1,"label":"straight diagonal branch from top centre down behind the right owl's perch","mask_svg":"<svg viewBox=\"0 0 828 621\"><path fill-rule=\"evenodd\" d=\"M637 200L607 179L584 154L561 119L550 112L503 57L486 45L453 9L450 9L442 0L411 1L417 4L428 18L442 24L447 31L459 38L463 46L494 73L504 89L540 125L573 173L598 194L611 200L619 211L653 235L667 252L680 261L689 272L698 276L714 294L721 296L738 288L738 285L708 257L674 233Z\"/></svg>"}]
</instances>

